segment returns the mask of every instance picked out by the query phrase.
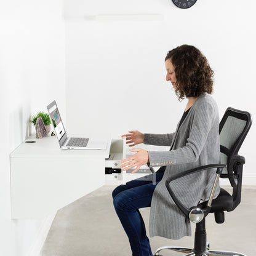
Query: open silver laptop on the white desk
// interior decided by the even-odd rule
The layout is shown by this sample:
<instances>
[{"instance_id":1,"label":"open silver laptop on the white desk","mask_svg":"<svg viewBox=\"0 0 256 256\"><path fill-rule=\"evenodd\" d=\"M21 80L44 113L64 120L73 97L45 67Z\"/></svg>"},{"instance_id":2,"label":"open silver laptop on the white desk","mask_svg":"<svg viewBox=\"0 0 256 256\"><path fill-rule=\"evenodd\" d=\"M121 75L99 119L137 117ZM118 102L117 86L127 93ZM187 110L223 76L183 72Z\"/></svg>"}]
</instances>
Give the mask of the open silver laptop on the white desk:
<instances>
[{"instance_id":1,"label":"open silver laptop on the white desk","mask_svg":"<svg viewBox=\"0 0 256 256\"><path fill-rule=\"evenodd\" d=\"M58 111L55 100L47 106L50 120L54 126L55 135L57 136L60 148L63 150L105 150L107 145L106 139L97 138L68 138L63 126L60 112Z\"/></svg>"}]
</instances>

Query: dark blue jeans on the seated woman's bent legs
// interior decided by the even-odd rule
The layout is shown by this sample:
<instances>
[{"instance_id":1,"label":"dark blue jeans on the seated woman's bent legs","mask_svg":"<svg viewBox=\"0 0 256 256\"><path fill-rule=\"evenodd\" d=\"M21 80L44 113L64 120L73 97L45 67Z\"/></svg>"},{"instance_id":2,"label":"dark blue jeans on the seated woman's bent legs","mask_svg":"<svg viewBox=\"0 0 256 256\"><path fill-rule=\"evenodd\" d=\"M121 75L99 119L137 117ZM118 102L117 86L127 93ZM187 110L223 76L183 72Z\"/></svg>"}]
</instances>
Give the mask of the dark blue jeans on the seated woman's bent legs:
<instances>
[{"instance_id":1,"label":"dark blue jeans on the seated woman's bent legs","mask_svg":"<svg viewBox=\"0 0 256 256\"><path fill-rule=\"evenodd\" d=\"M153 177L153 175L155 175ZM114 189L113 203L116 214L129 238L133 256L151 256L150 241L146 236L140 208L150 207L154 188L164 172L156 172L120 185ZM154 180L155 179L155 180ZM154 183L152 182L154 180Z\"/></svg>"}]
</instances>

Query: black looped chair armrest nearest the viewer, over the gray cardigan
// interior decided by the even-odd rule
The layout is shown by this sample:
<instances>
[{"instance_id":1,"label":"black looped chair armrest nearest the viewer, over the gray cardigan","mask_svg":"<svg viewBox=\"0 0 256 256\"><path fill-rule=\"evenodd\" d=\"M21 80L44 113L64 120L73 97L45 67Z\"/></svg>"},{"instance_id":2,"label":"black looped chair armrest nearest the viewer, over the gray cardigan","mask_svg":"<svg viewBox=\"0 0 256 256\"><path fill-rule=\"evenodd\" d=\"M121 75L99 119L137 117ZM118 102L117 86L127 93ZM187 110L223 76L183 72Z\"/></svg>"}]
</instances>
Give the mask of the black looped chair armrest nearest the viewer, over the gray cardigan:
<instances>
[{"instance_id":1,"label":"black looped chair armrest nearest the viewer, over the gray cardigan","mask_svg":"<svg viewBox=\"0 0 256 256\"><path fill-rule=\"evenodd\" d=\"M172 188L170 187L170 182L172 182L173 180L177 180L178 178L182 178L186 175L190 175L190 174L194 174L196 172L201 172L202 170L207 170L207 169L212 169L212 168L217 168L217 173L221 173L222 169L226 167L225 164L208 164L207 166L200 166L200 167L196 167L194 169L191 170L186 170L185 172L181 172L180 174L176 174L172 177L167 178L166 180L166 188L169 191L170 196L172 197L172 199L174 200L175 204L177 204L178 208L183 212L183 214L186 215L186 217L188 217L188 215L190 214L190 209L188 209L186 206L184 206L182 204L182 202L180 202L180 200L177 198L177 196L175 196L174 191L172 190ZM208 212L209 210L207 210Z\"/></svg>"}]
</instances>

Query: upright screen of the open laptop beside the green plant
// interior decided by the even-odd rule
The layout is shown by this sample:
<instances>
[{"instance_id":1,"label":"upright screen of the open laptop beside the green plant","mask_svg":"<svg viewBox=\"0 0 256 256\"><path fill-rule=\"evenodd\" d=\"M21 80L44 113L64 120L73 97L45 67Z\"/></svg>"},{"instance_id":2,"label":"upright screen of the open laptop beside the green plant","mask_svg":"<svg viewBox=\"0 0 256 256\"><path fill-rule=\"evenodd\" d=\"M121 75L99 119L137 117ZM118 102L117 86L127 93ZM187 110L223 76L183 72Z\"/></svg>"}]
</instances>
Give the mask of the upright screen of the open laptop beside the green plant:
<instances>
[{"instance_id":1,"label":"upright screen of the open laptop beside the green plant","mask_svg":"<svg viewBox=\"0 0 256 256\"><path fill-rule=\"evenodd\" d=\"M62 123L62 119L60 118L60 113L58 112L56 102L52 102L49 106L47 106L47 108L50 114L50 119L52 120L52 124L54 125L54 130L58 141L60 141L65 135L65 129Z\"/></svg>"}]
</instances>

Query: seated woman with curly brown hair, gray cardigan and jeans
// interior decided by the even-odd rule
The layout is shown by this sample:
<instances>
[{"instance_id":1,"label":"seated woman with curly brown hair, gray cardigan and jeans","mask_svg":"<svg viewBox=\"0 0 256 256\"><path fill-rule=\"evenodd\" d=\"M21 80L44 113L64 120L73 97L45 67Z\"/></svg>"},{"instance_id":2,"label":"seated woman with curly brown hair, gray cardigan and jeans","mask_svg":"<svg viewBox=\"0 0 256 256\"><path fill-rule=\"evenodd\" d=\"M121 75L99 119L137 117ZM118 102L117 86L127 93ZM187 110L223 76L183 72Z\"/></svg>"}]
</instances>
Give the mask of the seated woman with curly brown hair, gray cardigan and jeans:
<instances>
[{"instance_id":1,"label":"seated woman with curly brown hair, gray cardigan and jeans","mask_svg":"<svg viewBox=\"0 0 256 256\"><path fill-rule=\"evenodd\" d=\"M143 164L161 166L156 182L145 178L127 182L113 191L116 213L129 238L132 255L152 255L145 225L138 209L150 209L150 236L180 239L191 236L190 222L178 209L166 189L166 179L179 172L220 162L218 110L212 93L213 74L206 57L194 46L170 50L165 59L166 80L172 83L179 100L188 99L185 112L172 134L142 134L130 131L123 135L130 146L139 143L170 146L170 151L146 151L141 148L122 160L123 170ZM149 175L150 176L150 175ZM187 207L207 201L214 183L215 169L174 180L170 183L177 197ZM151 177L148 177L150 180ZM217 187L215 197L220 188Z\"/></svg>"}]
</instances>

